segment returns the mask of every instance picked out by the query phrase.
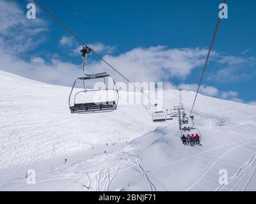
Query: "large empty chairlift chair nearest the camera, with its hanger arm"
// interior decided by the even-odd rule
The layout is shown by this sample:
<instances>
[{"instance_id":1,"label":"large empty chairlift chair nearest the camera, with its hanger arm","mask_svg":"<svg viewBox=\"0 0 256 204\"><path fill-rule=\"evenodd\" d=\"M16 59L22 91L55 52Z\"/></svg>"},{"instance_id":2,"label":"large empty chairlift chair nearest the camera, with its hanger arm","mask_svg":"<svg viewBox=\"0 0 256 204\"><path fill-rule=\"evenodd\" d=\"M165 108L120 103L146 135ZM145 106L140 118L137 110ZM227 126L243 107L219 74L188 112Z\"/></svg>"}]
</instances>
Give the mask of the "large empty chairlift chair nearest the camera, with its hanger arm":
<instances>
[{"instance_id":1,"label":"large empty chairlift chair nearest the camera, with its hanger arm","mask_svg":"<svg viewBox=\"0 0 256 204\"><path fill-rule=\"evenodd\" d=\"M81 78L77 78L77 80L74 82L74 85L72 87L72 90L70 92L69 95L69 99L68 99L68 105L69 105L69 109L71 113L99 113L99 112L113 112L114 110L116 110L117 105L118 105L118 99L119 99L119 95L118 95L118 89L116 87L116 83L113 77L111 77L111 75L108 75L107 73L97 73L97 74L92 74L92 75L88 75L85 73L85 65L86 65L86 59L87 59L87 55L92 53L92 49L90 49L89 47L84 47L83 50L81 50L81 54L83 56L84 59L84 64L83 64L83 72L85 77L81 77ZM109 89L109 87L107 87L106 85L106 79L111 78L111 80L113 81L113 88ZM102 79L104 81L104 89L86 89L86 81L88 80L95 80L95 79ZM75 92L75 87L78 81L83 82L83 89L81 91L81 89L79 89L79 91ZM115 92L115 97L113 98L113 100L106 100L106 101L101 101L101 102L94 102L94 101L90 101L89 103L80 103L77 102L77 96L87 96L88 93L90 92L99 92L99 91L106 91L107 93L109 91L113 91ZM74 93L74 94L73 94ZM74 100L72 100L72 98ZM84 97L83 97L84 98ZM73 101L73 103L72 103Z\"/></svg>"}]
</instances>

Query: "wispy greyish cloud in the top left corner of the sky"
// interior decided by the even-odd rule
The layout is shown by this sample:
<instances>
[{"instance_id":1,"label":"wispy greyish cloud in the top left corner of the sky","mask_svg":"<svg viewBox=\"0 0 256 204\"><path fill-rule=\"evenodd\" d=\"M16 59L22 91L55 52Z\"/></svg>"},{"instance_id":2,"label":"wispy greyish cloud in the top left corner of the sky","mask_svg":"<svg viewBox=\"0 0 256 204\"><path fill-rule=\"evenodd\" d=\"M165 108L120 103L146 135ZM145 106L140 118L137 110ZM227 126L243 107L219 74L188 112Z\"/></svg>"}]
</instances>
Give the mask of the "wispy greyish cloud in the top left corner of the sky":
<instances>
[{"instance_id":1,"label":"wispy greyish cloud in the top left corner of the sky","mask_svg":"<svg viewBox=\"0 0 256 204\"><path fill-rule=\"evenodd\" d=\"M0 1L1 50L16 55L31 50L45 40L41 35L45 31L48 31L47 22L26 18L26 13L15 1Z\"/></svg>"}]
</instances>

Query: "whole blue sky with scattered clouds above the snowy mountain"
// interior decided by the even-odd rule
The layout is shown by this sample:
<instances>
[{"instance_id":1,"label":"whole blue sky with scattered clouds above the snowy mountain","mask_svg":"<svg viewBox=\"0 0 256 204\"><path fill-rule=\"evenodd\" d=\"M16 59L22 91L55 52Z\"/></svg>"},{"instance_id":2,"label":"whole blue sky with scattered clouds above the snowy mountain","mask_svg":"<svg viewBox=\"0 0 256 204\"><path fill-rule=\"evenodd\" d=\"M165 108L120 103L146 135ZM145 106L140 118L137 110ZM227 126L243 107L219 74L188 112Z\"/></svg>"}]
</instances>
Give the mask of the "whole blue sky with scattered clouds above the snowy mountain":
<instances>
[{"instance_id":1,"label":"whole blue sky with scattered clouds above the snowy mountain","mask_svg":"<svg viewBox=\"0 0 256 204\"><path fill-rule=\"evenodd\" d=\"M10 2L0 0L9 10L2 6L0 49L6 56L0 59L4 66L0 69L71 85L82 73L76 52L79 43L39 8L36 20L26 19L26 4L31 1ZM131 81L163 81L166 87L195 90L221 0L40 3ZM256 2L232 0L227 4L228 19L221 20L201 92L249 103L256 101L252 90L256 85ZM13 52L11 66L13 60L7 59ZM94 57L90 64L92 72L110 71Z\"/></svg>"}]
</instances>

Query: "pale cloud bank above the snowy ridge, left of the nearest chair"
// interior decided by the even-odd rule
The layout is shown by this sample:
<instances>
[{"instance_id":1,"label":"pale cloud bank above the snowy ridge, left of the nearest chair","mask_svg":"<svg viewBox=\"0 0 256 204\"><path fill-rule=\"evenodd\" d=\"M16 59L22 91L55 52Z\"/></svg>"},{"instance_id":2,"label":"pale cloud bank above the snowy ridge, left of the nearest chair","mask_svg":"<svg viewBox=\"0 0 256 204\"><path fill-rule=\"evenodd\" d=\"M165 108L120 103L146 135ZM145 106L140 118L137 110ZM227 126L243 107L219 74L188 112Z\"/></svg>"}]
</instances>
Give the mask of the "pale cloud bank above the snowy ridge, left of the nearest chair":
<instances>
[{"instance_id":1,"label":"pale cloud bank above the snowy ridge, left of the nearest chair","mask_svg":"<svg viewBox=\"0 0 256 204\"><path fill-rule=\"evenodd\" d=\"M52 59L45 62L41 57L24 61L15 55L0 51L0 69L49 84L72 85L74 79L81 77L81 66Z\"/></svg>"}]
</instances>

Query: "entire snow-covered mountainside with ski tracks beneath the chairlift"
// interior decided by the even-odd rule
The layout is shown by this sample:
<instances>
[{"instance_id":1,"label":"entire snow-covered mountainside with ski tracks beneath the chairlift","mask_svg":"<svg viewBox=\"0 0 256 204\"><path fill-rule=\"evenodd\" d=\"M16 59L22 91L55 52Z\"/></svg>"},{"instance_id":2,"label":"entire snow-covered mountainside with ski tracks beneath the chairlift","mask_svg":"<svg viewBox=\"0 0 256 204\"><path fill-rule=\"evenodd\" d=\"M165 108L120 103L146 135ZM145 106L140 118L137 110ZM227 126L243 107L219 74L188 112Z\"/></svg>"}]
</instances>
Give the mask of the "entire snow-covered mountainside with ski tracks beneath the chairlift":
<instances>
[{"instance_id":1,"label":"entire snow-covered mountainside with ski tracks beneath the chairlift","mask_svg":"<svg viewBox=\"0 0 256 204\"><path fill-rule=\"evenodd\" d=\"M154 124L141 105L71 114L69 92L0 71L0 191L256 190L256 106L200 94L202 146L191 147L180 142L177 119ZM179 91L163 96L165 107L179 105ZM194 98L183 91L187 111Z\"/></svg>"}]
</instances>

